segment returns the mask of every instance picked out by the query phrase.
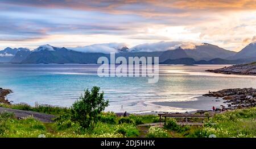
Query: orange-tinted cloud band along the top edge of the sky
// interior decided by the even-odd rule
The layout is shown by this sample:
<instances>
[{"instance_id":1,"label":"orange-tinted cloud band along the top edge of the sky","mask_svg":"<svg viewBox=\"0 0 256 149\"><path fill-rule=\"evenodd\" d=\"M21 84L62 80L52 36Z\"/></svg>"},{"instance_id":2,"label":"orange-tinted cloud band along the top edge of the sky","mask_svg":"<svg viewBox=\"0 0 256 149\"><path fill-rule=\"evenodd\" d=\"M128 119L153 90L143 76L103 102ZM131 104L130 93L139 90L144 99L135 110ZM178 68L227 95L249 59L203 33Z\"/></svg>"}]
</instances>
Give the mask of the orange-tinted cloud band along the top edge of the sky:
<instances>
[{"instance_id":1,"label":"orange-tinted cloud band along the top edge of the sky","mask_svg":"<svg viewBox=\"0 0 256 149\"><path fill-rule=\"evenodd\" d=\"M23 5L32 7L45 7L48 9L73 9L84 11L103 11L113 14L133 14L144 16L163 16L168 13L183 14L187 11L230 11L230 10L253 10L256 8L254 0L180 0L180 1L161 1L161 0L129 0L129 1L89 1L89 0L3 0L4 3L12 5Z\"/></svg>"}]
</instances>

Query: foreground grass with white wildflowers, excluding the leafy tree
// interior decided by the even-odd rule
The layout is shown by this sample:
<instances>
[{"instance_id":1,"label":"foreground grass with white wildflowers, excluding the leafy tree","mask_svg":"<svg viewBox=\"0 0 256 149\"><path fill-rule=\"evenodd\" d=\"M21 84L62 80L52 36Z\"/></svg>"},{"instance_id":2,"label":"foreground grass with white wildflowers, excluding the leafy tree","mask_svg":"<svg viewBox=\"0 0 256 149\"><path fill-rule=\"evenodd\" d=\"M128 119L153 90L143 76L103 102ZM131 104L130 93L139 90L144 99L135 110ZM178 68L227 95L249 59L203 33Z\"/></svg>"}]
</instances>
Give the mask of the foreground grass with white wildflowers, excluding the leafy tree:
<instances>
[{"instance_id":1,"label":"foreground grass with white wildflowers, excluding the leafy tree","mask_svg":"<svg viewBox=\"0 0 256 149\"><path fill-rule=\"evenodd\" d=\"M6 106L4 106L6 107ZM227 111L216 114L203 127L177 126L175 119L168 119L164 128L138 127L142 123L159 122L155 115L130 115L117 117L114 113L101 113L100 122L94 130L83 129L73 122L67 114L68 109L61 107L31 107L12 105L13 109L32 110L55 114L54 123L42 123L33 117L16 119L13 114L0 114L0 137L208 137L214 134L226 137L256 137L256 107ZM214 125L212 125L214 123Z\"/></svg>"}]
</instances>

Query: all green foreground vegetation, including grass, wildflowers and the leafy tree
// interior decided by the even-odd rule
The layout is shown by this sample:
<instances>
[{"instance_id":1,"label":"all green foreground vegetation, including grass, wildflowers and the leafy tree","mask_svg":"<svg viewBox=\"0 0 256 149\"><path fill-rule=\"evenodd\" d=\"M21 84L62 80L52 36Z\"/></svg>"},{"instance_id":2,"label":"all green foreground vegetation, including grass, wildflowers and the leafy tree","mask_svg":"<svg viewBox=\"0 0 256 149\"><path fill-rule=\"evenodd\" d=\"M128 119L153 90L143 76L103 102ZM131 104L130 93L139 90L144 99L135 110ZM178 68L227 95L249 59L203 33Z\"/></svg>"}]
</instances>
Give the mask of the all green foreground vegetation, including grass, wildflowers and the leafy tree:
<instances>
[{"instance_id":1,"label":"all green foreground vegetation, including grass, wildflowers and the leafy tree","mask_svg":"<svg viewBox=\"0 0 256 149\"><path fill-rule=\"evenodd\" d=\"M13 113L2 112L0 137L256 137L256 107L216 113L209 121L204 121L203 126L180 126L180 119L174 118L167 118L164 125L150 126L143 124L159 122L157 115L120 117L104 112L108 101L99 90L98 87L85 90L71 108L0 104L1 107L55 115L53 122L46 123L32 115L17 119Z\"/></svg>"}]
</instances>

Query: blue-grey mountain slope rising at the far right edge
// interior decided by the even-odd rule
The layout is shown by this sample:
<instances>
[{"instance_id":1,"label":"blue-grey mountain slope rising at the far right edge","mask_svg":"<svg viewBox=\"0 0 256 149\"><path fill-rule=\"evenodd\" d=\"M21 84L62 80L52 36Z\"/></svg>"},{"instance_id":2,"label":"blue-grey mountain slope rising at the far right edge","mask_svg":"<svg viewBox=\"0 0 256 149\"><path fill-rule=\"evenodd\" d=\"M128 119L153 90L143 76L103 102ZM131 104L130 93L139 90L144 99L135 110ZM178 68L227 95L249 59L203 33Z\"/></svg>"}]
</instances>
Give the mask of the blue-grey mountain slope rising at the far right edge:
<instances>
[{"instance_id":1,"label":"blue-grey mountain slope rising at the far right edge","mask_svg":"<svg viewBox=\"0 0 256 149\"><path fill-rule=\"evenodd\" d=\"M250 43L230 59L254 59L256 60L256 42Z\"/></svg>"}]
</instances>

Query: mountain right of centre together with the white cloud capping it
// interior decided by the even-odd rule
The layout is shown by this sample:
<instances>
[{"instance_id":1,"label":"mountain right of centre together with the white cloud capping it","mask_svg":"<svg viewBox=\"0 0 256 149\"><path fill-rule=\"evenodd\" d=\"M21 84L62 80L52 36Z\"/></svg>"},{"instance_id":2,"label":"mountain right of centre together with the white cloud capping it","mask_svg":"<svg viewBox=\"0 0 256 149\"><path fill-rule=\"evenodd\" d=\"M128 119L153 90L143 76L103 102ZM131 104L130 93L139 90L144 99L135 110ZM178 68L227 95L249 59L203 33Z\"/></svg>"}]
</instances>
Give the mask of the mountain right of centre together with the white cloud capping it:
<instances>
[{"instance_id":1,"label":"mountain right of centre together with the white cloud capping it","mask_svg":"<svg viewBox=\"0 0 256 149\"><path fill-rule=\"evenodd\" d=\"M176 49L180 49L176 51ZM184 49L181 54L181 49ZM175 50L175 51L173 51ZM236 54L234 51L228 51L220 48L217 45L208 43L195 44L184 42L158 42L140 44L131 48L132 52L152 52L152 51L166 51L160 57L162 61L167 59L179 59L181 57L191 57L195 60L210 60L214 58L226 59L227 57ZM185 52L185 53L184 53Z\"/></svg>"}]
</instances>

